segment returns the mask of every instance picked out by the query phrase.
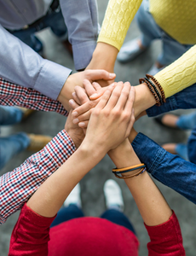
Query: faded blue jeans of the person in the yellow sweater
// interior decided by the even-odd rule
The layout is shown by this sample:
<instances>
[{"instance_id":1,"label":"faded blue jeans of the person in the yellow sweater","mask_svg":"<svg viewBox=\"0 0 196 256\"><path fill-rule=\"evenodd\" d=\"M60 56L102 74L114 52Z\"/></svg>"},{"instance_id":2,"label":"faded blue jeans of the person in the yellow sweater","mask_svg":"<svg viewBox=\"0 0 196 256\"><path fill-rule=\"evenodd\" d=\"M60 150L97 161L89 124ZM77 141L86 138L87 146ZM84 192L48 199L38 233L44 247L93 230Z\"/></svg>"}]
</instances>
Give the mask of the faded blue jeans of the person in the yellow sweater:
<instances>
[{"instance_id":1,"label":"faded blue jeans of the person in the yellow sweater","mask_svg":"<svg viewBox=\"0 0 196 256\"><path fill-rule=\"evenodd\" d=\"M141 30L141 44L148 47L153 40L160 39L162 41L162 53L158 57L158 61L163 66L167 66L173 61L181 57L193 45L185 45L178 43L175 39L161 29L153 16L149 12L149 1L144 0L136 14L136 20Z\"/></svg>"}]
</instances>

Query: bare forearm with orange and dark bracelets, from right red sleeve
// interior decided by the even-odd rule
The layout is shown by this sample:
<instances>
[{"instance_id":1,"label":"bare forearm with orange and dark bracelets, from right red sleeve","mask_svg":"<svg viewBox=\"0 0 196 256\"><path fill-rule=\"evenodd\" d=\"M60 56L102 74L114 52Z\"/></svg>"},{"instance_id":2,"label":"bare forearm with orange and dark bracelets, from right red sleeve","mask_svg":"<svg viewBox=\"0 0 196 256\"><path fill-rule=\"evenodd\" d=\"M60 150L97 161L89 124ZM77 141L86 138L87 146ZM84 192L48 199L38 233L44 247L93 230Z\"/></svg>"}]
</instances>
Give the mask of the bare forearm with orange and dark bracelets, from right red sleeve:
<instances>
[{"instance_id":1,"label":"bare forearm with orange and dark bracelets, from right red sleeve","mask_svg":"<svg viewBox=\"0 0 196 256\"><path fill-rule=\"evenodd\" d=\"M130 143L126 143L124 147L118 147L112 153L109 153L118 168L135 166L141 163L133 148L129 145ZM138 172L138 170L132 171L131 174L134 172ZM127 175L129 176L130 172L124 173L124 176ZM147 172L124 180L135 199L145 224L154 226L162 224L170 218L172 214L170 207Z\"/></svg>"}]
</instances>

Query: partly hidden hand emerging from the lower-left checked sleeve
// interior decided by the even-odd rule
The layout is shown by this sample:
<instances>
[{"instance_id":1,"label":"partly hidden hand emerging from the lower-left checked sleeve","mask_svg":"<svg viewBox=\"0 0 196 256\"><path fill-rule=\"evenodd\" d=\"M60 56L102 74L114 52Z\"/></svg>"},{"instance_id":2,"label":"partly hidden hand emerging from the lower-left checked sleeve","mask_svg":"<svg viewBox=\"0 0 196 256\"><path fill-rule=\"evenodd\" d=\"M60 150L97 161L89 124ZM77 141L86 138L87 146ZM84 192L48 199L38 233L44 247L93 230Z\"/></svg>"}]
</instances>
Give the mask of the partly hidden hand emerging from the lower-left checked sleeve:
<instances>
[{"instance_id":1,"label":"partly hidden hand emerging from the lower-left checked sleeve","mask_svg":"<svg viewBox=\"0 0 196 256\"><path fill-rule=\"evenodd\" d=\"M78 127L78 125L74 125L72 123L72 110L70 111L66 119L65 130L72 138L72 141L75 144L76 148L78 148L84 140L84 131L83 129Z\"/></svg>"}]
</instances>

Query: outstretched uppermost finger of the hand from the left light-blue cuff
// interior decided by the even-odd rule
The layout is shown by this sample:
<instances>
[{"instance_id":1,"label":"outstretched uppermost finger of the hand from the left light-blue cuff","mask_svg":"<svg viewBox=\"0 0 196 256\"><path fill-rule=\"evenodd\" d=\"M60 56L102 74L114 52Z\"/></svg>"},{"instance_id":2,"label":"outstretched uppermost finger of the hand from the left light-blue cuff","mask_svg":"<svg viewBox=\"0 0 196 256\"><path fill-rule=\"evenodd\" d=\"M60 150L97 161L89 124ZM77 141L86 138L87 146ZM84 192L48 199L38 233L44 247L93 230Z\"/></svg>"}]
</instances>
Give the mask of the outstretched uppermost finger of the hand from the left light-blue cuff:
<instances>
[{"instance_id":1,"label":"outstretched uppermost finger of the hand from the left light-blue cuff","mask_svg":"<svg viewBox=\"0 0 196 256\"><path fill-rule=\"evenodd\" d=\"M90 81L95 80L112 80L115 79L116 74L115 73L109 73L106 70L103 69L93 69L93 70L86 70L86 79L89 79Z\"/></svg>"}]
</instances>

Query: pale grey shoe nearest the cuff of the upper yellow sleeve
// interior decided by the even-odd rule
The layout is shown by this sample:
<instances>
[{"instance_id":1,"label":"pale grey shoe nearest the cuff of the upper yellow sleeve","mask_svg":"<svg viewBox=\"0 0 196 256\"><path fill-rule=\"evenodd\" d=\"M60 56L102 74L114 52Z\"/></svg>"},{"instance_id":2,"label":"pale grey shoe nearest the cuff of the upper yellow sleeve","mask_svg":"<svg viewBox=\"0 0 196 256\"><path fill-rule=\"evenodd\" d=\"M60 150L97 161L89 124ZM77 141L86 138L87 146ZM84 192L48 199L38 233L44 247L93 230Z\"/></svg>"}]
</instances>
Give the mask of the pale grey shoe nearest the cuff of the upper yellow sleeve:
<instances>
[{"instance_id":1,"label":"pale grey shoe nearest the cuff of the upper yellow sleeve","mask_svg":"<svg viewBox=\"0 0 196 256\"><path fill-rule=\"evenodd\" d=\"M133 61L138 55L141 55L147 48L141 49L138 41L140 38L135 38L122 46L117 55L117 60L121 63Z\"/></svg>"}]
</instances>

